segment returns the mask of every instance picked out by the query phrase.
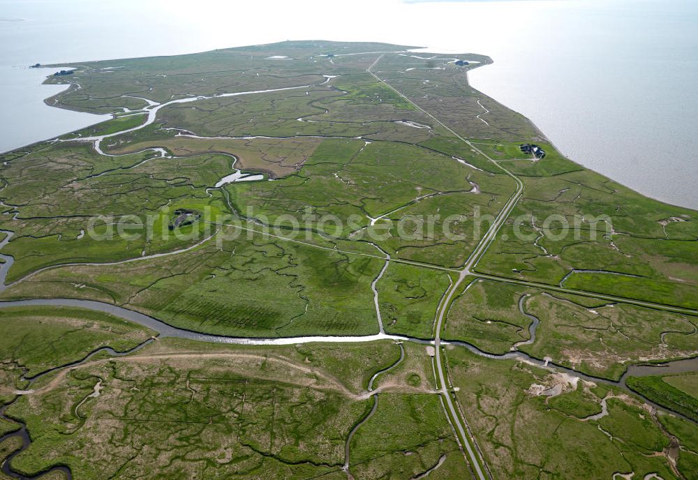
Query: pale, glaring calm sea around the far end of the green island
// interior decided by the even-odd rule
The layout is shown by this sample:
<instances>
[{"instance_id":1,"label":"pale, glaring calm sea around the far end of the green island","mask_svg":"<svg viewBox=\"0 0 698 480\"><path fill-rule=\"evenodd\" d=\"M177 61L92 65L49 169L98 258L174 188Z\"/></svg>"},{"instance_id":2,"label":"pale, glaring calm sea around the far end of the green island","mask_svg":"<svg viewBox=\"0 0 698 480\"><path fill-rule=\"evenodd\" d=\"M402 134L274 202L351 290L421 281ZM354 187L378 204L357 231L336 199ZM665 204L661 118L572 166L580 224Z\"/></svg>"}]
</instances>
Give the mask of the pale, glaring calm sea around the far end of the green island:
<instances>
[{"instance_id":1,"label":"pale, glaring calm sea around the far end of the green island","mask_svg":"<svg viewBox=\"0 0 698 480\"><path fill-rule=\"evenodd\" d=\"M376 40L488 54L473 85L572 160L698 208L697 32L693 0L0 0L0 151L101 120L44 105L33 63Z\"/></svg>"}]
</instances>

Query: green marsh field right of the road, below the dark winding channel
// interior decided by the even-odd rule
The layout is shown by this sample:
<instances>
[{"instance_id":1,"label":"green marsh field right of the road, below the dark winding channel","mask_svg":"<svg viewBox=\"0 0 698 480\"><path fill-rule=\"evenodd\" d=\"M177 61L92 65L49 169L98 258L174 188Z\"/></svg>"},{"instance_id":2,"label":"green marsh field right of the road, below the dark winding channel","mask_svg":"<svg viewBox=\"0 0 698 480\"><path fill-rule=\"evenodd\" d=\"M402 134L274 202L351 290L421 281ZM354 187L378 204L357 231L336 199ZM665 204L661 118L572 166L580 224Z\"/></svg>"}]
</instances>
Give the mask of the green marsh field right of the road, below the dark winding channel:
<instances>
[{"instance_id":1,"label":"green marsh field right of the road, below the dark winding channel","mask_svg":"<svg viewBox=\"0 0 698 480\"><path fill-rule=\"evenodd\" d=\"M598 391L582 381L575 387L547 370L483 359L463 349L446 354L459 389L455 396L468 407L466 418L496 478L532 478L540 472L565 479L611 478L616 472L676 478L662 456L670 438L659 419L676 425L672 433L681 445L690 449L695 443L694 424L648 412L614 388ZM563 393L535 395L535 384L560 384ZM608 414L585 420L601 411L597 393L607 396ZM690 461L678 464L686 478L693 474Z\"/></svg>"}]
</instances>

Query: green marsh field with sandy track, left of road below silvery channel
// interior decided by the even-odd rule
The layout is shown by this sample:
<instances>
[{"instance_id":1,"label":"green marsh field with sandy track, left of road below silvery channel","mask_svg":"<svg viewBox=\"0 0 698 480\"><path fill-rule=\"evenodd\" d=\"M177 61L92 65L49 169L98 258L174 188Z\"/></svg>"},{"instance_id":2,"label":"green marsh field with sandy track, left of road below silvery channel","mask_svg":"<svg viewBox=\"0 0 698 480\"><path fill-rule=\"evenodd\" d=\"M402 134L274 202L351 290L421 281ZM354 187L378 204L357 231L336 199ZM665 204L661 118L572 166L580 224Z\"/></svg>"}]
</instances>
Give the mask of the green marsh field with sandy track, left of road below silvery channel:
<instances>
[{"instance_id":1,"label":"green marsh field with sandy track, left of road below silvery channel","mask_svg":"<svg viewBox=\"0 0 698 480\"><path fill-rule=\"evenodd\" d=\"M86 363L13 403L8 414L32 432L13 467L32 474L60 463L86 479L332 474L343 465L349 430L370 407L371 398L357 393L395 353L391 342L226 347L160 340L131 357ZM99 395L89 397L96 384ZM386 467L398 477L419 474L457 452L438 398L400 393L411 388L394 384L381 393L380 410L352 440L351 468L362 478L383 477ZM403 426L400 436L393 422ZM400 461L405 447L415 449L408 463ZM103 461L95 464L90 452L97 451Z\"/></svg>"}]
</instances>

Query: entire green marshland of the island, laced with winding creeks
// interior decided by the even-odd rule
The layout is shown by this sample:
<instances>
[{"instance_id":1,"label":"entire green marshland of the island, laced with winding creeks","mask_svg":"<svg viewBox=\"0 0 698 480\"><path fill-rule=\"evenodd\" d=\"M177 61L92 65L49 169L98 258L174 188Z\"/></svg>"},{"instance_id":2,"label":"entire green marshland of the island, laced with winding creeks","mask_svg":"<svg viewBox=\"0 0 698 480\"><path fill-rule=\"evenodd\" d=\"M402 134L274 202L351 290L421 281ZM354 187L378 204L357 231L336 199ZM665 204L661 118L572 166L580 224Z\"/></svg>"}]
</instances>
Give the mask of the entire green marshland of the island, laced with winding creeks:
<instances>
[{"instance_id":1,"label":"entire green marshland of the island, laced with winding creeks","mask_svg":"<svg viewBox=\"0 0 698 480\"><path fill-rule=\"evenodd\" d=\"M609 380L695 356L697 312L667 308L698 309L698 212L565 158L470 87L489 57L460 54L472 63L458 66L408 48L313 40L80 63L80 89L50 104L114 118L0 154L0 230L13 232L1 300L102 301L244 338L375 335L380 312L386 333L413 338L161 338L17 393L23 376L154 332L79 308L0 309L1 396L31 436L15 472L468 478L433 346L415 339ZM144 125L153 103L168 105ZM97 149L84 141L94 135L110 137ZM521 153L525 142L547 156ZM223 184L236 169L261 175ZM182 211L198 220L177 225ZM694 373L631 377L629 390L464 347L443 355L447 394L493 478L695 477L695 423L643 400L698 420ZM379 372L376 404L366 389ZM3 442L0 457L16 448Z\"/></svg>"}]
</instances>

